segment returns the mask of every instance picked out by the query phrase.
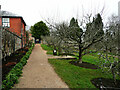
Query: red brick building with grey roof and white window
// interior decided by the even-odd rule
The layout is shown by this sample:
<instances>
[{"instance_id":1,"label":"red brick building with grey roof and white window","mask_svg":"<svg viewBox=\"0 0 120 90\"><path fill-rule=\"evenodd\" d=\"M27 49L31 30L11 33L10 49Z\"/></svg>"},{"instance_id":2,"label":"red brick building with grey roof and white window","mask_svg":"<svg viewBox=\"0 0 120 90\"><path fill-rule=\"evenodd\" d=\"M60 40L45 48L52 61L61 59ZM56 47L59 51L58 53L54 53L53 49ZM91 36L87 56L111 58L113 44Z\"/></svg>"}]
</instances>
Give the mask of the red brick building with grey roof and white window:
<instances>
[{"instance_id":1,"label":"red brick building with grey roof and white window","mask_svg":"<svg viewBox=\"0 0 120 90\"><path fill-rule=\"evenodd\" d=\"M15 15L8 11L1 11L0 26L8 28L9 31L15 33L22 38L22 47L26 43L26 23L22 16Z\"/></svg>"}]
</instances>

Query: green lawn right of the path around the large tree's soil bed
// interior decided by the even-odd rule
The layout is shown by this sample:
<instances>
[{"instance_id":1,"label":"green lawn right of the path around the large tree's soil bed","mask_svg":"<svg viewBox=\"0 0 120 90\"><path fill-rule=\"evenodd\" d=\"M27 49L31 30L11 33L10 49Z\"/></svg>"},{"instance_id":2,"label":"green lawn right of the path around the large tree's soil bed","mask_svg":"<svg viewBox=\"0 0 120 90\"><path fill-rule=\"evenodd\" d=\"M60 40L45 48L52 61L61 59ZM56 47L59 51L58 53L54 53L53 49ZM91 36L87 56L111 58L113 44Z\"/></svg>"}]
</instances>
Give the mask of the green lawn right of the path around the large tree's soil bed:
<instances>
[{"instance_id":1,"label":"green lawn right of the path around the large tree's soil bed","mask_svg":"<svg viewBox=\"0 0 120 90\"><path fill-rule=\"evenodd\" d=\"M94 60L97 57L91 55L83 56L83 61L97 64ZM90 80L94 78L104 77L112 78L111 75L102 73L100 69L86 69L70 64L71 60L49 59L56 73L66 82L70 88L95 88Z\"/></svg>"}]
</instances>

